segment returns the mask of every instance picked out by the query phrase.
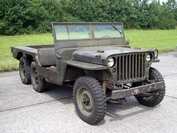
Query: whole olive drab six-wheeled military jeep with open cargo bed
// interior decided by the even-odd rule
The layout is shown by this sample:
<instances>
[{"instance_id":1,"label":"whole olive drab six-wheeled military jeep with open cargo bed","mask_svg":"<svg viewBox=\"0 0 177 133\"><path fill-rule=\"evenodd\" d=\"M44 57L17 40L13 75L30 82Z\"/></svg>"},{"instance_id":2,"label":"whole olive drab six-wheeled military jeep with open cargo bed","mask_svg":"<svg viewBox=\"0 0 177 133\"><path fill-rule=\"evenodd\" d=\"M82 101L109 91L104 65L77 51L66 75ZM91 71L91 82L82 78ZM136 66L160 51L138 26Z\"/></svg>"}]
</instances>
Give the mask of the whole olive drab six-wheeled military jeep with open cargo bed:
<instances>
[{"instance_id":1,"label":"whole olive drab six-wheeled military jeep with open cargo bed","mask_svg":"<svg viewBox=\"0 0 177 133\"><path fill-rule=\"evenodd\" d=\"M24 84L43 92L46 82L73 87L78 116L89 124L100 122L107 103L129 96L148 107L159 104L165 83L158 70L158 50L132 49L123 24L52 23L54 45L12 47Z\"/></svg>"}]
</instances>

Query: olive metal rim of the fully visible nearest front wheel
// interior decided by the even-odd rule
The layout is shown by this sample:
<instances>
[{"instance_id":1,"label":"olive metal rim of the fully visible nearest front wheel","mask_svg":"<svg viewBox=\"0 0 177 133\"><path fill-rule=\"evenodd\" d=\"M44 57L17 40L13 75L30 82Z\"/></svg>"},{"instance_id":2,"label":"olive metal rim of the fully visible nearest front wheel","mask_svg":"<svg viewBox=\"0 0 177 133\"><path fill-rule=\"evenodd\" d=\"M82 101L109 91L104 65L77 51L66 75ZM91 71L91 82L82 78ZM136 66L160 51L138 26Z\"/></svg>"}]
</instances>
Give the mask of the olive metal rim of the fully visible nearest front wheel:
<instances>
[{"instance_id":1,"label":"olive metal rim of the fully visible nearest front wheel","mask_svg":"<svg viewBox=\"0 0 177 133\"><path fill-rule=\"evenodd\" d=\"M80 87L77 92L79 110L86 116L93 111L93 98L86 87Z\"/></svg>"}]
</instances>

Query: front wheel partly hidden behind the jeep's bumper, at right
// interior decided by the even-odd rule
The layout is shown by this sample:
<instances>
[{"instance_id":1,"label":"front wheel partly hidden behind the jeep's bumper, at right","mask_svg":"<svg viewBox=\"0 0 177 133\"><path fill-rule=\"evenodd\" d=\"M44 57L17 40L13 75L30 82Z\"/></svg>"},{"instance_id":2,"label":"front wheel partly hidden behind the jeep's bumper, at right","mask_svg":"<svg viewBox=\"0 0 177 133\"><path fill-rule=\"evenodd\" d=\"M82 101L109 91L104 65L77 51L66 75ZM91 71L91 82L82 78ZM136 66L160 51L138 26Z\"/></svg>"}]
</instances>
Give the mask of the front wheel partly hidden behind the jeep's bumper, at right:
<instances>
[{"instance_id":1,"label":"front wheel partly hidden behind the jeep's bumper, at right","mask_svg":"<svg viewBox=\"0 0 177 133\"><path fill-rule=\"evenodd\" d=\"M164 83L164 79L162 75L160 74L160 72L153 67L151 67L149 70L149 79L154 80L155 82L163 81L163 87L159 90L150 92L151 94L155 94L155 95L152 95L152 96L140 96L139 95L135 97L140 104L144 106L148 106L148 107L154 107L158 105L165 96L165 83Z\"/></svg>"}]
</instances>

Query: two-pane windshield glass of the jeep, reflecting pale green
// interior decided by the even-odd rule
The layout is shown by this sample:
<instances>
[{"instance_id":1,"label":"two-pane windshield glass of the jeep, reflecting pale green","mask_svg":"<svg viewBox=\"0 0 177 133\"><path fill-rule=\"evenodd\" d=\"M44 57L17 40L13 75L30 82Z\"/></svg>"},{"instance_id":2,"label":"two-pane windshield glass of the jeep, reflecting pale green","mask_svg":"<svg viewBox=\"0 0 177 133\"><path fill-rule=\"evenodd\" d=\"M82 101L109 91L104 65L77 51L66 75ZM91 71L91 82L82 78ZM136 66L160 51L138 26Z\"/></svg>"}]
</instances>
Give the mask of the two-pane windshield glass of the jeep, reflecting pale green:
<instances>
[{"instance_id":1,"label":"two-pane windshield glass of the jeep, reflecting pale green","mask_svg":"<svg viewBox=\"0 0 177 133\"><path fill-rule=\"evenodd\" d=\"M82 24L82 25L55 25L56 40L70 39L104 39L123 37L122 25L120 24Z\"/></svg>"}]
</instances>

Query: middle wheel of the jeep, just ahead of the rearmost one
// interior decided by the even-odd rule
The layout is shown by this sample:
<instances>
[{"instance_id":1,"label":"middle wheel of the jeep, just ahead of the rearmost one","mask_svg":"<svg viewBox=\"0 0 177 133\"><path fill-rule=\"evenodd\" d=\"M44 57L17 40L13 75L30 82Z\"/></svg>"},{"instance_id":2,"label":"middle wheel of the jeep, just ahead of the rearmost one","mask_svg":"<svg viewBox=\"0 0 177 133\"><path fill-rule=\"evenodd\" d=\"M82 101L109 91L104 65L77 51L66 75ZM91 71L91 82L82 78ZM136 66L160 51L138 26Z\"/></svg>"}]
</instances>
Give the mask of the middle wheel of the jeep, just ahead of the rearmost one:
<instances>
[{"instance_id":1,"label":"middle wheel of the jeep, just ahead of the rearmost one","mask_svg":"<svg viewBox=\"0 0 177 133\"><path fill-rule=\"evenodd\" d=\"M46 90L46 81L43 77L41 77L36 68L36 62L31 63L31 82L33 85L33 89L37 92L44 92Z\"/></svg>"}]
</instances>

